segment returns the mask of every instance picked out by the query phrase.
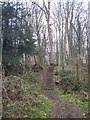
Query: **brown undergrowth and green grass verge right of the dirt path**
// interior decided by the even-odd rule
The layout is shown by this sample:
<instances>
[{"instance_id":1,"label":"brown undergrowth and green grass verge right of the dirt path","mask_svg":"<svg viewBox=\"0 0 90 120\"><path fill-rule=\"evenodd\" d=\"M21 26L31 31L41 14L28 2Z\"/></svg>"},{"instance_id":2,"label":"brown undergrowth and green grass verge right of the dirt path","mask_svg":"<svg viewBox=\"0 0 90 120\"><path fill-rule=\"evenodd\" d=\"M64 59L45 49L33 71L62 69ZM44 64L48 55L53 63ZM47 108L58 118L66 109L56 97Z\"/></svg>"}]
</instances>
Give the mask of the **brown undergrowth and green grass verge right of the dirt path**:
<instances>
[{"instance_id":1,"label":"brown undergrowth and green grass verge right of the dirt path","mask_svg":"<svg viewBox=\"0 0 90 120\"><path fill-rule=\"evenodd\" d=\"M89 101L82 94L82 91L88 91L87 79L77 81L75 74L71 71L60 71L60 77L65 81L66 87L64 88L62 85L55 89L59 96L65 102L77 104L83 113L87 114Z\"/></svg>"}]
</instances>

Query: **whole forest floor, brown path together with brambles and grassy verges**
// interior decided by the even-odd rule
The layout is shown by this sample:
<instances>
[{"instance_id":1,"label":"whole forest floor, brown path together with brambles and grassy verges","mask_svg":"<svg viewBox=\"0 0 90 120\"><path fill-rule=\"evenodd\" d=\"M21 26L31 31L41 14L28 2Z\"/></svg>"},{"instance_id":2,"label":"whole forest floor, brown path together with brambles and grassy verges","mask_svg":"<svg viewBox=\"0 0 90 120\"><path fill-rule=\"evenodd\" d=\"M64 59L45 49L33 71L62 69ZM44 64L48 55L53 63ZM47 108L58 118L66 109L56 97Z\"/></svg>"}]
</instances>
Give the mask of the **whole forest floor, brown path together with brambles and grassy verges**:
<instances>
[{"instance_id":1,"label":"whole forest floor, brown path together with brambles and grassy verges","mask_svg":"<svg viewBox=\"0 0 90 120\"><path fill-rule=\"evenodd\" d=\"M88 102L78 99L76 94L64 93L61 86L49 86L47 81L54 80L50 71L45 68L30 74L4 77L3 117L85 118Z\"/></svg>"}]
</instances>

